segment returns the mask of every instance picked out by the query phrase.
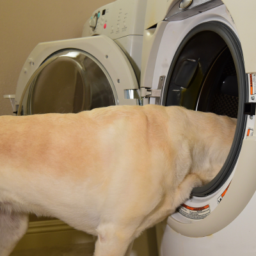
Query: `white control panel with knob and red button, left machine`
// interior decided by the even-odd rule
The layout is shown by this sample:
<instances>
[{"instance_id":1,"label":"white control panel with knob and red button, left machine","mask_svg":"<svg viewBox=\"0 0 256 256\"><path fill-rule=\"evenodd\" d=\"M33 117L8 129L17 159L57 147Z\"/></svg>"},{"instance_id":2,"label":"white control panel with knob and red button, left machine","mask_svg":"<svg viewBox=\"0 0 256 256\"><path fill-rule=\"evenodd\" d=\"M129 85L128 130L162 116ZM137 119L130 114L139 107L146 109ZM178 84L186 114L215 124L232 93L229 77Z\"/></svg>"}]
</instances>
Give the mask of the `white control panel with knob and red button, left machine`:
<instances>
[{"instance_id":1,"label":"white control panel with knob and red button, left machine","mask_svg":"<svg viewBox=\"0 0 256 256\"><path fill-rule=\"evenodd\" d=\"M143 35L147 0L117 0L92 13L82 36L107 35L113 40Z\"/></svg>"}]
</instances>

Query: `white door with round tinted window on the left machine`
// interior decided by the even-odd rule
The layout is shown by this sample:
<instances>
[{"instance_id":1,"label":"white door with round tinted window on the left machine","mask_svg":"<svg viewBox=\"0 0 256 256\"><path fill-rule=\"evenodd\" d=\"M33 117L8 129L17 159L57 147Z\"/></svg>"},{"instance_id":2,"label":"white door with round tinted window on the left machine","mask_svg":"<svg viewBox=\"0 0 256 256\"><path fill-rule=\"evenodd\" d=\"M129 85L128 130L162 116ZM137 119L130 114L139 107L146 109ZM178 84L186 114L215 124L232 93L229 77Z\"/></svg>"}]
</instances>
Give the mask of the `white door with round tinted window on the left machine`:
<instances>
[{"instance_id":1,"label":"white door with round tinted window on the left machine","mask_svg":"<svg viewBox=\"0 0 256 256\"><path fill-rule=\"evenodd\" d=\"M15 101L18 115L78 113L138 104L126 97L136 90L124 52L108 37L93 36L37 45L20 74Z\"/></svg>"}]
</instances>

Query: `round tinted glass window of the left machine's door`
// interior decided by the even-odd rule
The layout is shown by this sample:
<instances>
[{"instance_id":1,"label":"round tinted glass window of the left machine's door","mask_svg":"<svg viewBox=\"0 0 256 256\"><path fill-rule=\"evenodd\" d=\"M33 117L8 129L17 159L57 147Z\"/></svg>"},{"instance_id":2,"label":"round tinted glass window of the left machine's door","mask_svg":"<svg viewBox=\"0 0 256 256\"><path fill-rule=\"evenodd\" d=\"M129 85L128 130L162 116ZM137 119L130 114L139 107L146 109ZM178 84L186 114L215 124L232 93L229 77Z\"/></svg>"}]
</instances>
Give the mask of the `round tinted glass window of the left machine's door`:
<instances>
[{"instance_id":1,"label":"round tinted glass window of the left machine's door","mask_svg":"<svg viewBox=\"0 0 256 256\"><path fill-rule=\"evenodd\" d=\"M116 104L115 86L100 62L87 52L63 49L31 76L18 115L78 113Z\"/></svg>"}]
</instances>

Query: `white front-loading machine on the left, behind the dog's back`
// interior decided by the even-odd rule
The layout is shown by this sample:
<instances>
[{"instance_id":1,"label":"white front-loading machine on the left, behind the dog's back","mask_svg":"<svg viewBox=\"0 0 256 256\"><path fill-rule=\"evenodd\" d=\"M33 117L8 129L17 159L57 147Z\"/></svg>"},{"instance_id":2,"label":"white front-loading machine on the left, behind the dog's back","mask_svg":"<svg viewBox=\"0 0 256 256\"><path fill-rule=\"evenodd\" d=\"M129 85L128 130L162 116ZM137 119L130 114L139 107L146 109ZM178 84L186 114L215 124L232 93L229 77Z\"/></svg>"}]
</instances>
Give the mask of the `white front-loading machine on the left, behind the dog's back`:
<instances>
[{"instance_id":1,"label":"white front-loading machine on the left, behind the dog's back","mask_svg":"<svg viewBox=\"0 0 256 256\"><path fill-rule=\"evenodd\" d=\"M81 38L36 45L20 72L17 115L77 113L141 104L138 95L147 0L100 7Z\"/></svg>"}]
</instances>

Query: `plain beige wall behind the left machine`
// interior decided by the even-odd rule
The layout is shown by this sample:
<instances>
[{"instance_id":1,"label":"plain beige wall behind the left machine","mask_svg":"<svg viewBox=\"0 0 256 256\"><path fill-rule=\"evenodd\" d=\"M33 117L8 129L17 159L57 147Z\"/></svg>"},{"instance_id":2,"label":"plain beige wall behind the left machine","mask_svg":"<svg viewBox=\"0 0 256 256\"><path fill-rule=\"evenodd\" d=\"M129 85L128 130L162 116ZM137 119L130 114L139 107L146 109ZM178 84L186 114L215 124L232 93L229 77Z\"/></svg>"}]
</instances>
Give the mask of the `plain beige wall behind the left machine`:
<instances>
[{"instance_id":1,"label":"plain beige wall behind the left machine","mask_svg":"<svg viewBox=\"0 0 256 256\"><path fill-rule=\"evenodd\" d=\"M114 0L0 0L0 115L12 115L20 70L39 42L77 38L92 12Z\"/></svg>"}]
</instances>

